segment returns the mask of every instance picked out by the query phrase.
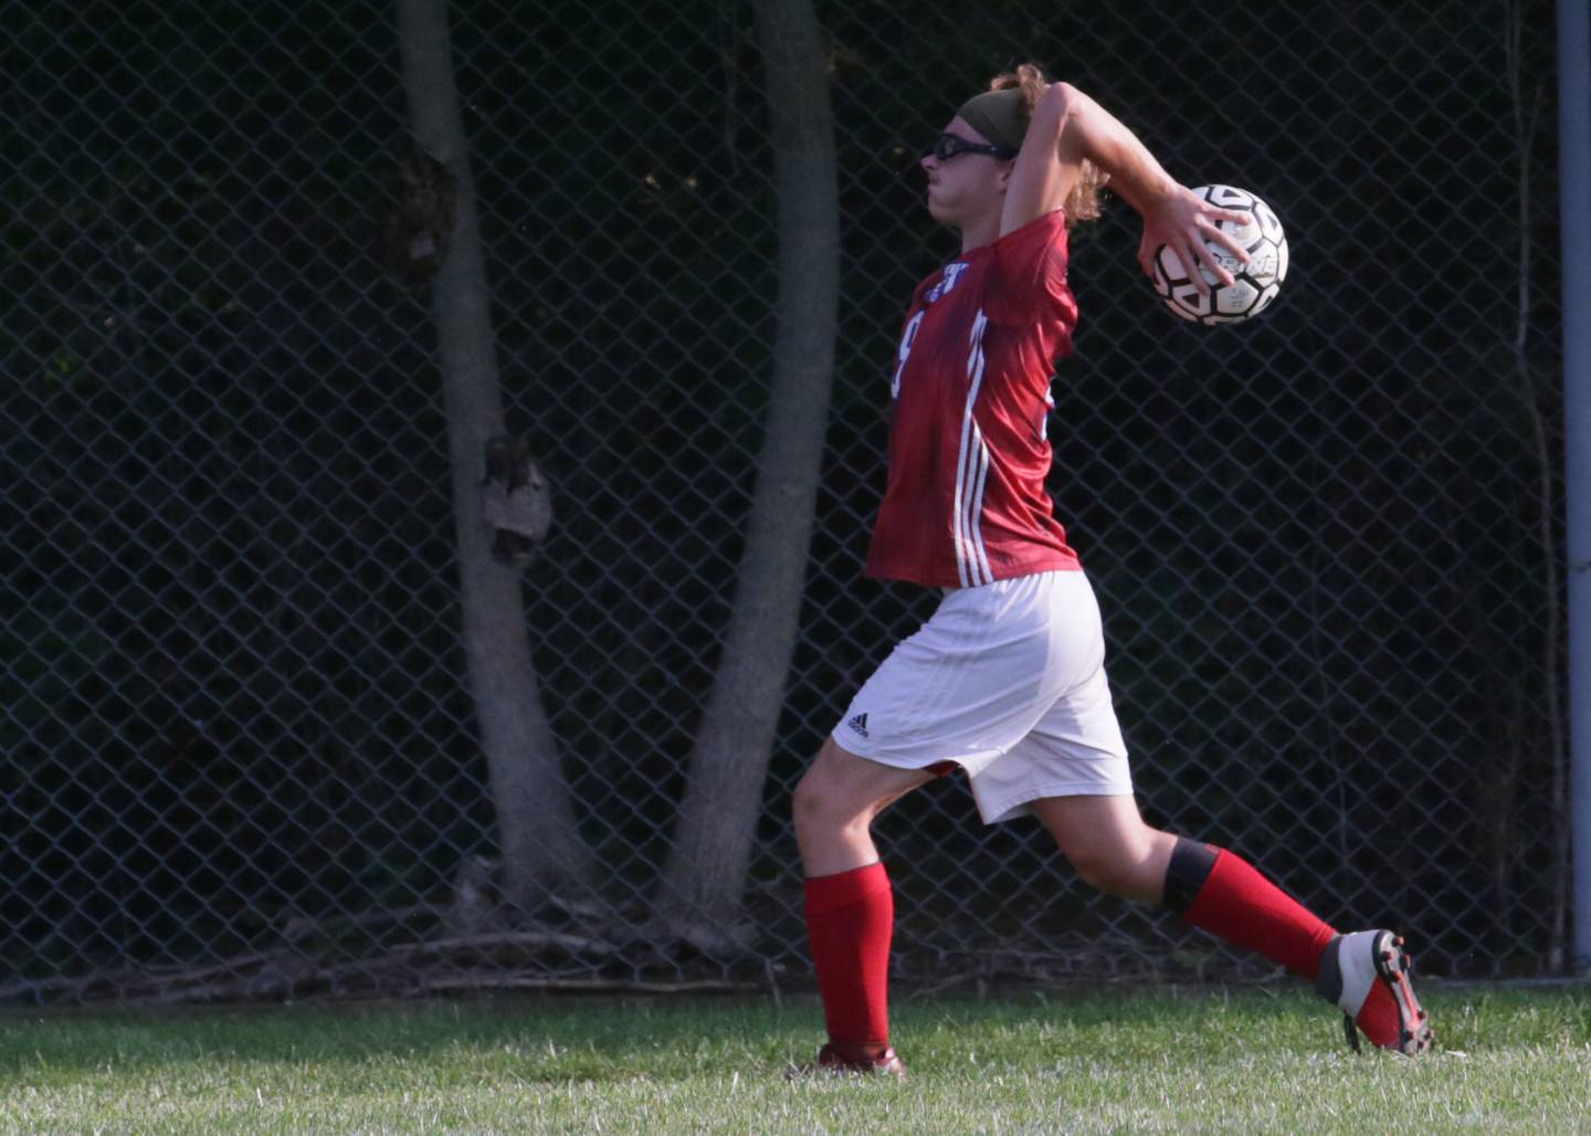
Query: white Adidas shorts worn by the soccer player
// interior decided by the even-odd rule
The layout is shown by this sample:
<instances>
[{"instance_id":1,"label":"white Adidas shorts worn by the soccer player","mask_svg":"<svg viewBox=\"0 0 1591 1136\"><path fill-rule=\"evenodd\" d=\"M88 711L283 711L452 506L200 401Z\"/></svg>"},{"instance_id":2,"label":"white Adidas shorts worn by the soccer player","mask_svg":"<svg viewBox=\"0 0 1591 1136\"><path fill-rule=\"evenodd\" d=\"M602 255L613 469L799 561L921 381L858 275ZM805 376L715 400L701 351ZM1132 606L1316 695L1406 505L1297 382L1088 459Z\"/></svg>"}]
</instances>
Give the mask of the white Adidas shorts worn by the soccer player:
<instances>
[{"instance_id":1,"label":"white Adidas shorts worn by the soccer player","mask_svg":"<svg viewBox=\"0 0 1591 1136\"><path fill-rule=\"evenodd\" d=\"M985 824L1041 797L1133 792L1099 605L1080 571L948 589L862 684L834 740L897 768L955 762Z\"/></svg>"}]
</instances>

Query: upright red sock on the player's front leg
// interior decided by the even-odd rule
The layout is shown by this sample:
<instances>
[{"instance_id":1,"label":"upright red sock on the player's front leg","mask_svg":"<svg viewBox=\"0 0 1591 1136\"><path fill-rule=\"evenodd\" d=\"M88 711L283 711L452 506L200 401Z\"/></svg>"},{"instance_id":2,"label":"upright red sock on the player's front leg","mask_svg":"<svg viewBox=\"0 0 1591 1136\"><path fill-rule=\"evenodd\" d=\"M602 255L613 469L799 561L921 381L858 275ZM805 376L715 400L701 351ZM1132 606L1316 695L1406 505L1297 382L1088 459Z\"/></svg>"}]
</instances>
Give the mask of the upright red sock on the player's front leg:
<instances>
[{"instance_id":1,"label":"upright red sock on the player's front leg","mask_svg":"<svg viewBox=\"0 0 1591 1136\"><path fill-rule=\"evenodd\" d=\"M807 880L807 936L829 1044L864 1060L889 1044L894 893L883 864Z\"/></svg>"}]
</instances>

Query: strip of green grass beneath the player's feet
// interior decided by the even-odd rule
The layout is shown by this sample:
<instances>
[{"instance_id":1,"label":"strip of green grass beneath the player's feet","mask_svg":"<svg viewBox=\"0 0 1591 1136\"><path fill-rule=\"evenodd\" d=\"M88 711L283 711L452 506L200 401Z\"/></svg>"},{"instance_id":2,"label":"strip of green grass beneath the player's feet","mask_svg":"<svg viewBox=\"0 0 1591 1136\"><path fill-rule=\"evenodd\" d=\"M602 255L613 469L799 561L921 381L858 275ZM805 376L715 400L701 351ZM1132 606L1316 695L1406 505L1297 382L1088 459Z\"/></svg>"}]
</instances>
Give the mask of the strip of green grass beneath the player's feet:
<instances>
[{"instance_id":1,"label":"strip of green grass beneath the player's feet","mask_svg":"<svg viewBox=\"0 0 1591 1136\"><path fill-rule=\"evenodd\" d=\"M786 1080L810 999L0 1015L5 1131L1591 1131L1591 990L1440 990L1354 1055L1301 990L905 1001L905 1085Z\"/></svg>"}]
</instances>

